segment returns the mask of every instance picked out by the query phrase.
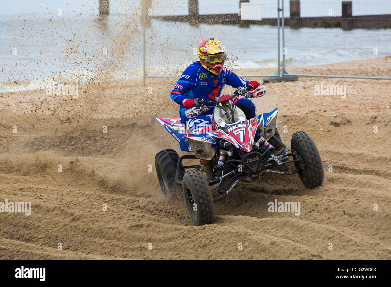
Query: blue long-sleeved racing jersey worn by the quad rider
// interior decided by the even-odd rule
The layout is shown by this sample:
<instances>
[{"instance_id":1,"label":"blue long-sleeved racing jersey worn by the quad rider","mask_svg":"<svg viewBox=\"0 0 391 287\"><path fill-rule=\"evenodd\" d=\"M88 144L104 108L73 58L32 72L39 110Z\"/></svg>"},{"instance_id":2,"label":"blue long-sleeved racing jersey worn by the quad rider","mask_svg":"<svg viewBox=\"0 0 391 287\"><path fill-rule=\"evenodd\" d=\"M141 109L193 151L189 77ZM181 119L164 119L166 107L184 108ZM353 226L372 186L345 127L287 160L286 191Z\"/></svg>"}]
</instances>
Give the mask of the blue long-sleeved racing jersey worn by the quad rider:
<instances>
[{"instance_id":1,"label":"blue long-sleeved racing jersey worn by the quad rider","mask_svg":"<svg viewBox=\"0 0 391 287\"><path fill-rule=\"evenodd\" d=\"M174 102L179 104L181 122L184 123L188 120L184 113L186 109L182 107L182 102L185 98L190 100L195 98L213 100L215 97L220 96L225 84L239 89L240 87L247 87L248 83L248 81L238 77L226 67L223 67L219 75L215 75L206 70L199 61L196 61L190 64L182 73L182 76L175 83L170 96ZM213 109L210 109L204 114L212 112Z\"/></svg>"}]
</instances>

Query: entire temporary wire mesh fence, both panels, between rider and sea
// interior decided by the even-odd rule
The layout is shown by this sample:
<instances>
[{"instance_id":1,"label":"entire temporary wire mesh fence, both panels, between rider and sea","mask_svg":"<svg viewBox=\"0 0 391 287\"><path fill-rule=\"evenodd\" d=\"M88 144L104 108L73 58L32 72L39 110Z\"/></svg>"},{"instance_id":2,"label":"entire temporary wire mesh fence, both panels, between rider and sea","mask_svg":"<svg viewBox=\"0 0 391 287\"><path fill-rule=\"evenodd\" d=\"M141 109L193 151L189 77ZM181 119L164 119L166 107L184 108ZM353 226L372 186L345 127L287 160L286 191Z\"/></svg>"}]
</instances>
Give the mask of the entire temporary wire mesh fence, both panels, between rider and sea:
<instances>
[{"instance_id":1,"label":"entire temporary wire mesh fence, both panels, between rider and sea","mask_svg":"<svg viewBox=\"0 0 391 287\"><path fill-rule=\"evenodd\" d=\"M239 0L171 0L169 8L143 1L151 23L143 33L145 77L179 77L197 61L201 39L215 37L228 50L226 66L246 77L280 75L282 65L282 75L390 79L382 74L391 65L383 61L391 55L386 0L251 0L262 5L262 21L240 21Z\"/></svg>"}]
</instances>

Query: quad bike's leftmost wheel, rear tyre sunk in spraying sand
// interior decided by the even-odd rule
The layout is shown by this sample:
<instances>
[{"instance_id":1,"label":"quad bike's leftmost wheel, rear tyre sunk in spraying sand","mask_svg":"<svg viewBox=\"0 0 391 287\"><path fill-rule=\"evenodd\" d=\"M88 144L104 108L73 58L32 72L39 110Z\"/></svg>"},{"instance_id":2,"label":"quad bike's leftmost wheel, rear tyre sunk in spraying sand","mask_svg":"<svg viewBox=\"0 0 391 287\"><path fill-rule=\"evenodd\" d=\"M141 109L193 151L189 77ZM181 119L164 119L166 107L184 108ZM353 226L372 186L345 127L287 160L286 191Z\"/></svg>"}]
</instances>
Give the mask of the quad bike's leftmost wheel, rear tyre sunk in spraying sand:
<instances>
[{"instance_id":1,"label":"quad bike's leftmost wheel, rear tyre sunk in spraying sand","mask_svg":"<svg viewBox=\"0 0 391 287\"><path fill-rule=\"evenodd\" d=\"M175 183L176 166L179 155L175 150L162 150L155 156L155 168L159 184L166 198L176 197L181 192L181 186ZM185 169L179 168L178 180L180 181Z\"/></svg>"}]
</instances>

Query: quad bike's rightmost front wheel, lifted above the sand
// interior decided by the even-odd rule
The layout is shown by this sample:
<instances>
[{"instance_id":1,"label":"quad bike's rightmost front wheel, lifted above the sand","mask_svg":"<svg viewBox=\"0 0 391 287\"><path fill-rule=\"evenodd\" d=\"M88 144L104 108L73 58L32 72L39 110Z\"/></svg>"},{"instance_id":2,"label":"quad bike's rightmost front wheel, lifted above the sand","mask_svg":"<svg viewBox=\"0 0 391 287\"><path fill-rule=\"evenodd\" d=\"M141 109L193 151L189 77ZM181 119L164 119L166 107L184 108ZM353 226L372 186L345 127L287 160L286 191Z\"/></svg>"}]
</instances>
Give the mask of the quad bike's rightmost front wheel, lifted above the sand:
<instances>
[{"instance_id":1,"label":"quad bike's rightmost front wheel, lifted above the sand","mask_svg":"<svg viewBox=\"0 0 391 287\"><path fill-rule=\"evenodd\" d=\"M325 177L322 160L314 140L304 131L295 132L291 139L292 155L296 169L303 169L299 176L305 187L315 188L322 184Z\"/></svg>"}]
</instances>

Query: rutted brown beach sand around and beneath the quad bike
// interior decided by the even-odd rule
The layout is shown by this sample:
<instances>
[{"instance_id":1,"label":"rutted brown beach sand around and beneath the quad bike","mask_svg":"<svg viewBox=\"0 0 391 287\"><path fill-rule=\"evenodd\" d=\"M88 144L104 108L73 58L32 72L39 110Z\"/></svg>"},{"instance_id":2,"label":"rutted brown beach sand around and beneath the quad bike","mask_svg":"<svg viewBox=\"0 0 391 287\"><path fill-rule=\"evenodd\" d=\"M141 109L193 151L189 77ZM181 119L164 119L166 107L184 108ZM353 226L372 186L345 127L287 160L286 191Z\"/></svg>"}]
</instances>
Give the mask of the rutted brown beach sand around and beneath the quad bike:
<instances>
[{"instance_id":1,"label":"rutted brown beach sand around and beneath the quad bike","mask_svg":"<svg viewBox=\"0 0 391 287\"><path fill-rule=\"evenodd\" d=\"M389 76L390 61L287 70ZM177 116L169 97L175 81L80 86L77 99L44 90L0 94L0 201L31 201L30 216L0 213L0 259L391 259L390 80L265 84L258 112L280 108L288 146L297 130L313 137L324 183L306 189L298 175L240 183L215 204L215 223L199 227L182 198L164 199L154 170L160 150L179 152L154 119ZM321 82L345 84L346 98L315 96ZM300 216L268 212L276 199L300 201Z\"/></svg>"}]
</instances>

